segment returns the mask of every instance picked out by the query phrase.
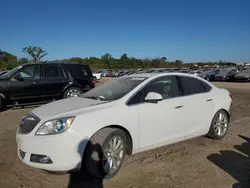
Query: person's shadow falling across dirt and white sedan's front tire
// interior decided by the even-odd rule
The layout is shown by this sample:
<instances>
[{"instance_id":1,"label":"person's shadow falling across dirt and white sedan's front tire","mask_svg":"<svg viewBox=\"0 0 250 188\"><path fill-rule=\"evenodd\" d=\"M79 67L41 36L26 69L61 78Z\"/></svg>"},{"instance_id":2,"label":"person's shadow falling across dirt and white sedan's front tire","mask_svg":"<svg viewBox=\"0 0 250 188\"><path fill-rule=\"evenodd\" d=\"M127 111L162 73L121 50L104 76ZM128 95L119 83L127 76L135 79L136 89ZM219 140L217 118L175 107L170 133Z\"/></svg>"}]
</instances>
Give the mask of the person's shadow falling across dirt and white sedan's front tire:
<instances>
[{"instance_id":1,"label":"person's shadow falling across dirt and white sedan's front tire","mask_svg":"<svg viewBox=\"0 0 250 188\"><path fill-rule=\"evenodd\" d=\"M92 144L89 140L83 140L78 145L78 153L83 159L83 152L85 149L85 146L88 144L88 147L91 147L91 153L88 153L88 155L92 155L95 152L96 148L100 148L101 146L99 144ZM91 158L93 165L99 165L98 161L95 161L93 158ZM70 172L70 179L68 188L103 188L103 179L97 179L91 176L86 168L84 167L84 164L79 163L77 165L77 168L81 168L80 171Z\"/></svg>"}]
</instances>

